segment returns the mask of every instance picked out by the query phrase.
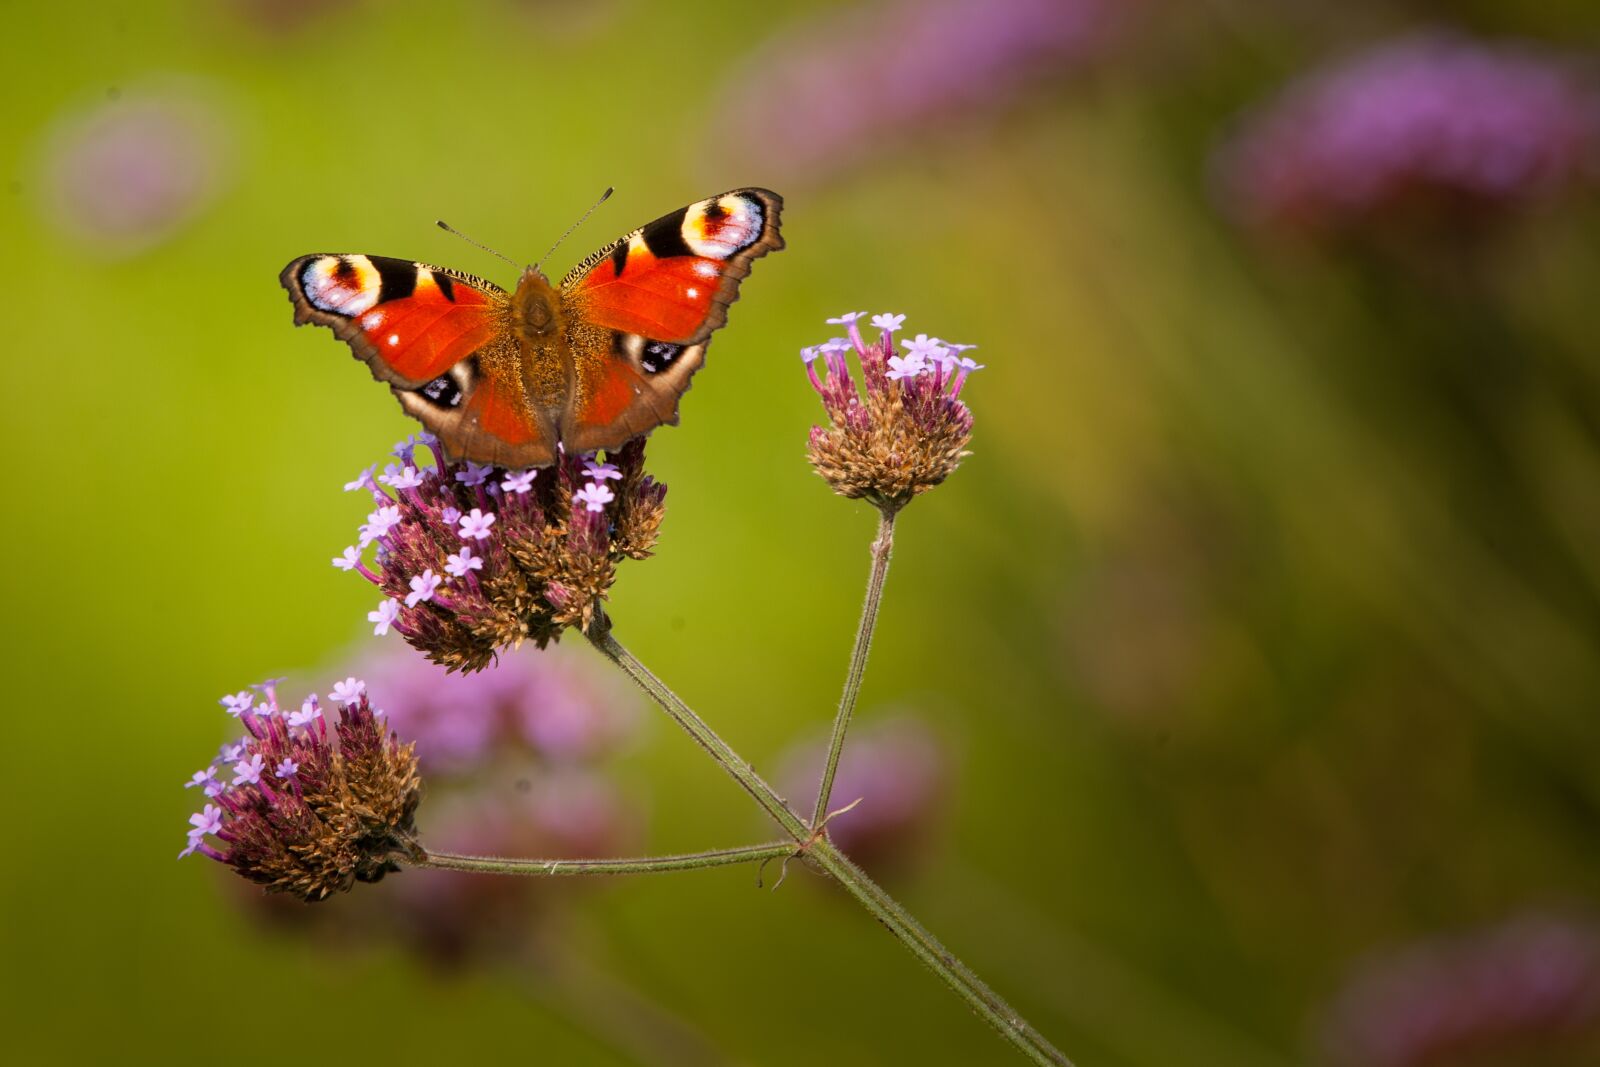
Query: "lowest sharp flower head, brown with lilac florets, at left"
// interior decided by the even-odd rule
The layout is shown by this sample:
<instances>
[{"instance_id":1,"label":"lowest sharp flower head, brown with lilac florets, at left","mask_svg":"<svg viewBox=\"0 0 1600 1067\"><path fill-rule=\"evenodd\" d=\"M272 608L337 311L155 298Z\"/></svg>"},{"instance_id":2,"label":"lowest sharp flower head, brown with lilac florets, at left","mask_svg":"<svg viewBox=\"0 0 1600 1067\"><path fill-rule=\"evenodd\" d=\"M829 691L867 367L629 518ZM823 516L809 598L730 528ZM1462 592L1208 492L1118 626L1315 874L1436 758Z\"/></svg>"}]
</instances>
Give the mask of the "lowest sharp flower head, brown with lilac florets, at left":
<instances>
[{"instance_id":1,"label":"lowest sharp flower head, brown with lilac florets, at left","mask_svg":"<svg viewBox=\"0 0 1600 1067\"><path fill-rule=\"evenodd\" d=\"M189 781L214 803L189 819L179 859L202 853L269 893L306 901L398 870L394 857L410 848L422 781L413 745L386 728L365 683L334 686L333 731L315 694L283 710L274 683L258 688L261 702L250 689L222 697L248 733Z\"/></svg>"}]
</instances>

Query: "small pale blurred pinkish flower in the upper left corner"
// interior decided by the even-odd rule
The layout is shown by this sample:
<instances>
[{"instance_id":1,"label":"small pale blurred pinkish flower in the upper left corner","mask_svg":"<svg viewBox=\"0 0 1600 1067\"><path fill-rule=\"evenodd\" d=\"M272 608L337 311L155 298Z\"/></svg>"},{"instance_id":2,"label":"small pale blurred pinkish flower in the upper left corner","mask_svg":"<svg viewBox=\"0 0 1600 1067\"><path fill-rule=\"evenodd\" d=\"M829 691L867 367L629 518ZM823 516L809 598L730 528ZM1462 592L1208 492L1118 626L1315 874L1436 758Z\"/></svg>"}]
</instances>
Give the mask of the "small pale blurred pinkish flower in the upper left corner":
<instances>
[{"instance_id":1,"label":"small pale blurred pinkish flower in the upper left corner","mask_svg":"<svg viewBox=\"0 0 1600 1067\"><path fill-rule=\"evenodd\" d=\"M197 218L227 170L226 126L202 90L139 91L64 115L45 146L56 226L136 254Z\"/></svg>"}]
</instances>

